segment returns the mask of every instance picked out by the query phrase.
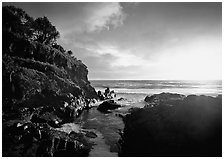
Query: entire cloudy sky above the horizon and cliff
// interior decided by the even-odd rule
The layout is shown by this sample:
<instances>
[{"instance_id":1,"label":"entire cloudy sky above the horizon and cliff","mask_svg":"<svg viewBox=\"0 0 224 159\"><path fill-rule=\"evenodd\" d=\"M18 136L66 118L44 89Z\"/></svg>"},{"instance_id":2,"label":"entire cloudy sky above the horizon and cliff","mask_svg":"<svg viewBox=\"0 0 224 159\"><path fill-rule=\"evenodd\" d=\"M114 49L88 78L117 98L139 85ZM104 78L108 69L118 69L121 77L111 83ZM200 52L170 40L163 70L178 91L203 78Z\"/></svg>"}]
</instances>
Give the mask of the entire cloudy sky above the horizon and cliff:
<instances>
[{"instance_id":1,"label":"entire cloudy sky above the horizon and cliff","mask_svg":"<svg viewBox=\"0 0 224 159\"><path fill-rule=\"evenodd\" d=\"M89 79L222 78L221 3L3 3L47 16Z\"/></svg>"}]
</instances>

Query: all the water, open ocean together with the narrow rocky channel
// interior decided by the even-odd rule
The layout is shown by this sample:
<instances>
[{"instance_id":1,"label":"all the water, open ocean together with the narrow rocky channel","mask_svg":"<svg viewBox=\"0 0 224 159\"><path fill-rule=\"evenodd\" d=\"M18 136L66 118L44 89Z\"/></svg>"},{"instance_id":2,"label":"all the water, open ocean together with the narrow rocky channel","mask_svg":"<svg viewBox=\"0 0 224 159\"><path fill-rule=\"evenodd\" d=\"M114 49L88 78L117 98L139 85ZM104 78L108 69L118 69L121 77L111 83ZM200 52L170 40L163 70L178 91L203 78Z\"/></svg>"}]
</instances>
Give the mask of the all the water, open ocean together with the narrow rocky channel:
<instances>
[{"instance_id":1,"label":"all the water, open ocean together with the narrow rocky channel","mask_svg":"<svg viewBox=\"0 0 224 159\"><path fill-rule=\"evenodd\" d=\"M102 91L109 87L117 94L116 99L122 105L121 108L104 114L97 107L85 110L76 120L83 129L88 129L97 134L92 139L95 143L91 157L116 157L119 146L117 144L120 136L119 131L124 128L124 123L118 114L126 114L132 107L144 107L144 98L147 95L170 92L184 95L196 94L217 96L222 94L222 81L155 81L155 80L92 80L91 85L96 91Z\"/></svg>"}]
</instances>

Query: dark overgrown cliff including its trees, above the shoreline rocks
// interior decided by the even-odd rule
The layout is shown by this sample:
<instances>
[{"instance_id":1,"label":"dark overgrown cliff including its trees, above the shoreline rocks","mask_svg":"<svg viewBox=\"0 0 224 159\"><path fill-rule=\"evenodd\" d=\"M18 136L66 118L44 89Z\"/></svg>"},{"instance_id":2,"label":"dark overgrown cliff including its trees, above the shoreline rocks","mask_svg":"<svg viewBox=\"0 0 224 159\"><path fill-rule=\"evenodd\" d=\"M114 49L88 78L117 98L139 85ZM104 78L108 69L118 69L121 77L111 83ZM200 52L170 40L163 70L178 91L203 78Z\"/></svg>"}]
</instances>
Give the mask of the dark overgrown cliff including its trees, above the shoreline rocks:
<instances>
[{"instance_id":1,"label":"dark overgrown cliff including its trees, above the shoreline rocks","mask_svg":"<svg viewBox=\"0 0 224 159\"><path fill-rule=\"evenodd\" d=\"M47 17L33 20L22 9L3 7L3 100L23 102L43 91L97 97L87 67L56 43L58 37Z\"/></svg>"}]
</instances>

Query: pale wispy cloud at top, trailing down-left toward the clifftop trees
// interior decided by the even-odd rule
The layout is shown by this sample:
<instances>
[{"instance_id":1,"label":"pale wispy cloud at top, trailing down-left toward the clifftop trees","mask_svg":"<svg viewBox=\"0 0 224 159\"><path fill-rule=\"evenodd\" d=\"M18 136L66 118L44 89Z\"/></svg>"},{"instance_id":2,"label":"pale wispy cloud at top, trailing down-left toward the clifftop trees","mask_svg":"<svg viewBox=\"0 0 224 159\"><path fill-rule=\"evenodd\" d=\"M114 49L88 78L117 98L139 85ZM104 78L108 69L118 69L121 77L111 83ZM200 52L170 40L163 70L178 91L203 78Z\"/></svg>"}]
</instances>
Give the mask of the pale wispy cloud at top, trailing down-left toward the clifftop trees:
<instances>
[{"instance_id":1,"label":"pale wispy cloud at top, trailing down-left toward the clifftop trees","mask_svg":"<svg viewBox=\"0 0 224 159\"><path fill-rule=\"evenodd\" d=\"M100 35L101 31L112 28L115 30L127 17L121 3L117 2L77 3L75 7L74 13L69 15L70 20L59 24L59 43L68 45L71 40L79 43L83 38L85 42L87 38L91 41L91 35Z\"/></svg>"}]
</instances>

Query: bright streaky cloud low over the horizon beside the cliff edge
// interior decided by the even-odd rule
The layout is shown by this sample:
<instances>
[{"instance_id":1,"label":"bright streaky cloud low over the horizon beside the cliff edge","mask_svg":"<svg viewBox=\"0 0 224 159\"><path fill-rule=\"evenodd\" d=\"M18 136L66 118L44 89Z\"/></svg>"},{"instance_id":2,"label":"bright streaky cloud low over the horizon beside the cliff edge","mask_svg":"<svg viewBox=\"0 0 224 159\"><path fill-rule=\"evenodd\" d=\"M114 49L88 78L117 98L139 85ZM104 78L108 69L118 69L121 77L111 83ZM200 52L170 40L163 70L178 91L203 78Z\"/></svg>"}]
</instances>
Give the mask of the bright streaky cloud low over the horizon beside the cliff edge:
<instances>
[{"instance_id":1,"label":"bright streaky cloud low over the horizon beside the cliff edge","mask_svg":"<svg viewBox=\"0 0 224 159\"><path fill-rule=\"evenodd\" d=\"M147 63L131 48L122 48L85 36L78 37L75 42L70 40L68 45L74 50L74 56L87 65L91 79L135 78L135 72Z\"/></svg>"}]
</instances>

